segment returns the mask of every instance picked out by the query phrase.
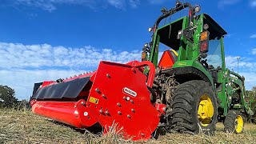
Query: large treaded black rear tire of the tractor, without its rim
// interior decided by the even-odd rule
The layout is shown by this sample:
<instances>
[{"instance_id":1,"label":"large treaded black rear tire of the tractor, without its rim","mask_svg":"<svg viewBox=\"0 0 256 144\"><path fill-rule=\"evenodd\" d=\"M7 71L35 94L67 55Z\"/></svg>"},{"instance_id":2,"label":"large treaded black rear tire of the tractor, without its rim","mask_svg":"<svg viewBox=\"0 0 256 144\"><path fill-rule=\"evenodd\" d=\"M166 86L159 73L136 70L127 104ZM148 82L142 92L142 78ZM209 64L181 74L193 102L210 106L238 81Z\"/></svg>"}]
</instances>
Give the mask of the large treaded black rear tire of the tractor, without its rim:
<instances>
[{"instance_id":1,"label":"large treaded black rear tire of the tractor, without its rim","mask_svg":"<svg viewBox=\"0 0 256 144\"><path fill-rule=\"evenodd\" d=\"M208 126L202 126L198 119L198 106L204 94L210 98L214 110ZM190 134L213 134L218 121L217 106L217 98L208 82L194 80L182 83L175 91L171 105L172 129Z\"/></svg>"}]
</instances>

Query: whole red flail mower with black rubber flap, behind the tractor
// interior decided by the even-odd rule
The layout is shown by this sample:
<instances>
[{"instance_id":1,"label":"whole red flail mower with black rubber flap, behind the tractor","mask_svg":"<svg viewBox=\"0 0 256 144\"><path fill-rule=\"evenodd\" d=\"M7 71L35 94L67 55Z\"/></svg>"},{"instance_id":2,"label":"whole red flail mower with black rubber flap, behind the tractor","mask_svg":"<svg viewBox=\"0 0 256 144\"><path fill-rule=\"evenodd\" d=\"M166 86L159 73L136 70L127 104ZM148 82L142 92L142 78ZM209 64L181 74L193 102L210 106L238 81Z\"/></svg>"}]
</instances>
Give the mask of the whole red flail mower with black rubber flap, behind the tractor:
<instances>
[{"instance_id":1,"label":"whole red flail mower with black rubber flap, behind the tractor","mask_svg":"<svg viewBox=\"0 0 256 144\"><path fill-rule=\"evenodd\" d=\"M149 73L143 74L147 66ZM98 70L56 82L36 83L30 104L35 114L86 129L102 126L126 139L151 138L166 105L150 102L155 66L151 62L100 62Z\"/></svg>"}]
</instances>

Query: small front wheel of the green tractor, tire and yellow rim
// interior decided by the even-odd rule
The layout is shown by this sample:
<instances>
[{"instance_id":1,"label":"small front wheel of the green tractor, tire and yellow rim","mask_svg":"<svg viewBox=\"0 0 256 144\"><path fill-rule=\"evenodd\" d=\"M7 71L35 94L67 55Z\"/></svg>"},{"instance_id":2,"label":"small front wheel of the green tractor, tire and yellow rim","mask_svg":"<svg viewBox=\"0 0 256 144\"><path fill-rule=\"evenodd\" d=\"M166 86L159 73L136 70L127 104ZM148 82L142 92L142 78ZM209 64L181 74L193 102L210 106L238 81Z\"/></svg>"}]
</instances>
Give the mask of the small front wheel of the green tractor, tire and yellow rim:
<instances>
[{"instance_id":1,"label":"small front wheel of the green tractor, tire and yellow rim","mask_svg":"<svg viewBox=\"0 0 256 144\"><path fill-rule=\"evenodd\" d=\"M244 121L243 121L242 113L238 110L230 110L226 114L226 118L224 121L224 130L240 134L243 131Z\"/></svg>"}]
</instances>

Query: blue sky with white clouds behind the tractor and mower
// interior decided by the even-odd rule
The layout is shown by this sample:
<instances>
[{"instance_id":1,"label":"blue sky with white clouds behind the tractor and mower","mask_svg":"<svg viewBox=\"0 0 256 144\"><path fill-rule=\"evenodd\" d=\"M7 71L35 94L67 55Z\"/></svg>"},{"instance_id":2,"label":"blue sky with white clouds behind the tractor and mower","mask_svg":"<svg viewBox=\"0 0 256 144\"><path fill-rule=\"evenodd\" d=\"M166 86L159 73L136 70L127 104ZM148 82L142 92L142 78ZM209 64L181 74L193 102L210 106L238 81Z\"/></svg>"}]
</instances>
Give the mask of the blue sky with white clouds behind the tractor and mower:
<instances>
[{"instance_id":1,"label":"blue sky with white clouds behind the tractor and mower","mask_svg":"<svg viewBox=\"0 0 256 144\"><path fill-rule=\"evenodd\" d=\"M97 69L98 62L139 59L147 29L174 0L2 0L0 84L19 99L34 82ZM256 86L256 0L190 0L227 32L226 65ZM174 15L171 20L185 15Z\"/></svg>"}]
</instances>

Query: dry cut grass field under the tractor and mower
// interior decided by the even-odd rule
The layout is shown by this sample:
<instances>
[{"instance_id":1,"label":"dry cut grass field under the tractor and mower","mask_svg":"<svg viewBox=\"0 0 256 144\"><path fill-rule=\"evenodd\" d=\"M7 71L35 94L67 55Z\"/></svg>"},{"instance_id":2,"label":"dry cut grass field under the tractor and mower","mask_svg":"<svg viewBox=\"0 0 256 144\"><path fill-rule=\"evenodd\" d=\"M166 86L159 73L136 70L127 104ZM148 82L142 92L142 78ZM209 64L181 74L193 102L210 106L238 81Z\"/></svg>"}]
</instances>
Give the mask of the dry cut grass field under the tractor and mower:
<instances>
[{"instance_id":1,"label":"dry cut grass field under the tractor and mower","mask_svg":"<svg viewBox=\"0 0 256 144\"><path fill-rule=\"evenodd\" d=\"M243 134L227 134L218 123L217 133L210 137L202 134L166 134L157 140L130 142L115 134L101 137L88 131L75 130L28 110L0 110L0 143L256 143L256 125L246 124Z\"/></svg>"}]
</instances>

